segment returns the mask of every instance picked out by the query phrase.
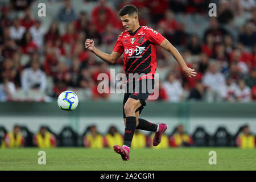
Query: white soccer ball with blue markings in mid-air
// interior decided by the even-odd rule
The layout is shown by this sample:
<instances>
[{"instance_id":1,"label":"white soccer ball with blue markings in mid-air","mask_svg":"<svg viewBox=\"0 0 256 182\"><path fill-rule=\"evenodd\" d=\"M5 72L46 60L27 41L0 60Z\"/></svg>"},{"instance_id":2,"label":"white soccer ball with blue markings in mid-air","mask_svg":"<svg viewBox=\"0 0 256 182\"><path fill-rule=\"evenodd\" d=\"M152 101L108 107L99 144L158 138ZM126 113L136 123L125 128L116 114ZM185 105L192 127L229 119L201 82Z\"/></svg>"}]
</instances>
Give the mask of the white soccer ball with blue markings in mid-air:
<instances>
[{"instance_id":1,"label":"white soccer ball with blue markings in mid-air","mask_svg":"<svg viewBox=\"0 0 256 182\"><path fill-rule=\"evenodd\" d=\"M58 105L62 110L74 110L78 105L78 97L72 91L64 91L58 97Z\"/></svg>"}]
</instances>

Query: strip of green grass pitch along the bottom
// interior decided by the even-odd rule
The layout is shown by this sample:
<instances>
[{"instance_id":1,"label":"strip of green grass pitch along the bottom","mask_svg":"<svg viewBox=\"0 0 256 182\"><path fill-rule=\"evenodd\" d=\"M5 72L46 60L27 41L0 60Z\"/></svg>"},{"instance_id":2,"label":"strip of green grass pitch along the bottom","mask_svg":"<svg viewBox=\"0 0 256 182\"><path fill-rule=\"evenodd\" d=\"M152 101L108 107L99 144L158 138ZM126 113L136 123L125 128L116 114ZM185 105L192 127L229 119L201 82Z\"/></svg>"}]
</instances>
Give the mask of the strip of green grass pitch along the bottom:
<instances>
[{"instance_id":1,"label":"strip of green grass pitch along the bottom","mask_svg":"<svg viewBox=\"0 0 256 182\"><path fill-rule=\"evenodd\" d=\"M39 165L38 152L46 152ZM209 151L217 152L210 165ZM256 150L240 148L131 149L123 161L111 148L18 148L0 149L0 170L256 170Z\"/></svg>"}]
</instances>

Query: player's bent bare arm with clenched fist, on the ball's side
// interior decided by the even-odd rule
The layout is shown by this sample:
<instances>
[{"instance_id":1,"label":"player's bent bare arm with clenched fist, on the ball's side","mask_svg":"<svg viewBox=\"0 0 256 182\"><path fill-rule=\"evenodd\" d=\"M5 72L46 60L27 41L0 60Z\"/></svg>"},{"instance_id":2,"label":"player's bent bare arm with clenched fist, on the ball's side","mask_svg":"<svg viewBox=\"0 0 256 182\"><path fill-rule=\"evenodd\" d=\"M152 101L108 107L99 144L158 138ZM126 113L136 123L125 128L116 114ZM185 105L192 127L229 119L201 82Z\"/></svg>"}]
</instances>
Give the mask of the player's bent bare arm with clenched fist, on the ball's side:
<instances>
[{"instance_id":1,"label":"player's bent bare arm with clenched fist, on the ball's side","mask_svg":"<svg viewBox=\"0 0 256 182\"><path fill-rule=\"evenodd\" d=\"M94 42L92 39L86 39L85 42L85 48L89 49L90 51L92 51L96 56L100 57L100 59L106 61L107 63L110 64L114 64L118 58L122 55L121 52L112 52L111 54L108 53L104 53L102 51L100 51L99 49L97 49L94 46Z\"/></svg>"}]
</instances>

